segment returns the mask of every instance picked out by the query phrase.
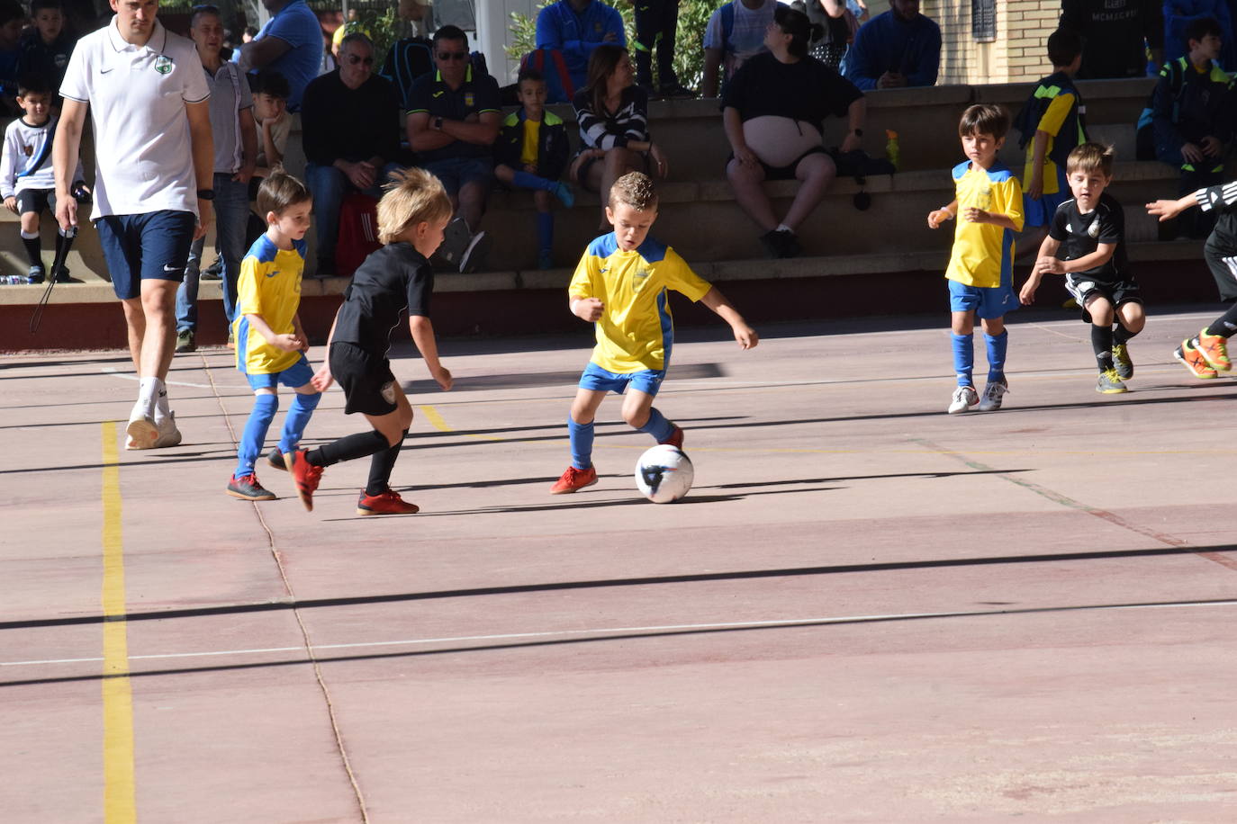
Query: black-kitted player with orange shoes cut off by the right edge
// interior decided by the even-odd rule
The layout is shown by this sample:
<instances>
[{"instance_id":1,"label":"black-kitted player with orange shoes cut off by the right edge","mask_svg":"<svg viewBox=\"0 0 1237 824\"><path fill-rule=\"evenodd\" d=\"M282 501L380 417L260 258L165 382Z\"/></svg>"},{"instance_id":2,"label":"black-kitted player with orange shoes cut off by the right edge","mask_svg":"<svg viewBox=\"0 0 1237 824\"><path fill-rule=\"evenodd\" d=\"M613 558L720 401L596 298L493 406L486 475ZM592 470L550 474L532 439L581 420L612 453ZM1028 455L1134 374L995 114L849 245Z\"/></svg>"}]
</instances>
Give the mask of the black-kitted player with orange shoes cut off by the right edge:
<instances>
[{"instance_id":1,"label":"black-kitted player with orange shoes cut off by the right edge","mask_svg":"<svg viewBox=\"0 0 1237 824\"><path fill-rule=\"evenodd\" d=\"M1237 300L1237 180L1199 189L1180 200L1149 203L1147 211L1164 221L1176 217L1191 206L1199 206L1202 211L1213 212L1216 216L1216 226L1202 247L1202 257L1207 261L1211 277L1220 288L1220 299L1233 303ZM1227 374L1233 368L1228 358L1228 338L1235 332L1237 332L1237 304L1230 306L1228 311L1197 335L1181 341L1173 357L1196 378L1206 380L1218 377L1221 372Z\"/></svg>"}]
</instances>

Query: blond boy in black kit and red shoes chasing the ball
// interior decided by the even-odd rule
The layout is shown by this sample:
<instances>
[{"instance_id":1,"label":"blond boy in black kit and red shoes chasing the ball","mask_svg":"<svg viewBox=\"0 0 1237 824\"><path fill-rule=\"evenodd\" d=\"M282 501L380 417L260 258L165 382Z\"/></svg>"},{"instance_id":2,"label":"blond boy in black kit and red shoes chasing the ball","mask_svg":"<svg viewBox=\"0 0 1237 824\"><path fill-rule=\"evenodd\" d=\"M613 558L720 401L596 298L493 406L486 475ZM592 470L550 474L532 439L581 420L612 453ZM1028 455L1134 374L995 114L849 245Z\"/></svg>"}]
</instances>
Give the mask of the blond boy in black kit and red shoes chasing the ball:
<instances>
[{"instance_id":1,"label":"blond boy in black kit and red shoes chasing the ball","mask_svg":"<svg viewBox=\"0 0 1237 824\"><path fill-rule=\"evenodd\" d=\"M379 240L386 246L365 258L353 275L330 329L327 364L313 378L318 392L339 380L344 411L361 413L374 429L283 456L301 503L308 510L313 509L313 493L324 468L366 456L374 457L356 514L411 514L418 509L388 486L400 445L412 425L412 406L391 374L386 357L391 332L403 311L408 313L412 340L429 367L429 376L444 392L452 388L452 373L438 359L429 321L434 272L427 261L443 242L452 201L438 178L422 169L395 172L391 180L379 201Z\"/></svg>"}]
</instances>

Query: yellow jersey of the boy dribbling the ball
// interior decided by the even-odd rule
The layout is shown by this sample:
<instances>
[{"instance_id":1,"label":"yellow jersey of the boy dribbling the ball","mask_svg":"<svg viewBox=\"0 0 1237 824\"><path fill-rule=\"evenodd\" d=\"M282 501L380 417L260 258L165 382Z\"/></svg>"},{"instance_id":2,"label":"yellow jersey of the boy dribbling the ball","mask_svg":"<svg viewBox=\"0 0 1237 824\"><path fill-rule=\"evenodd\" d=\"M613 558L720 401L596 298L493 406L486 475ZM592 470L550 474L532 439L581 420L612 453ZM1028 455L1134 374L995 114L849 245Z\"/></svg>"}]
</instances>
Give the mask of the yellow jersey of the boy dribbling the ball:
<instances>
[{"instance_id":1,"label":"yellow jersey of the boy dribbling the ball","mask_svg":"<svg viewBox=\"0 0 1237 824\"><path fill-rule=\"evenodd\" d=\"M591 362L627 374L666 368L674 343L669 290L696 301L711 288L673 248L647 237L626 252L611 232L589 243L568 294L605 305Z\"/></svg>"}]
</instances>

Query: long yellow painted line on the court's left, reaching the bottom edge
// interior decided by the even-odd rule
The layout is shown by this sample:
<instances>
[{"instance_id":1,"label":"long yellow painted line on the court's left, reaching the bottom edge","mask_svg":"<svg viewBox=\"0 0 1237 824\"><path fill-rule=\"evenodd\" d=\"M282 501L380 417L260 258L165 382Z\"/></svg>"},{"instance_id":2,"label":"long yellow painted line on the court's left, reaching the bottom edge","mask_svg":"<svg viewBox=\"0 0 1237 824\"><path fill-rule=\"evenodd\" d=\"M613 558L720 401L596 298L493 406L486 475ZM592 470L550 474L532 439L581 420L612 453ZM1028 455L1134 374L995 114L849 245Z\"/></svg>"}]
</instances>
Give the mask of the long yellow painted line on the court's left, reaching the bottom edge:
<instances>
[{"instance_id":1,"label":"long yellow painted line on the court's left, reaching the bottom edge","mask_svg":"<svg viewBox=\"0 0 1237 824\"><path fill-rule=\"evenodd\" d=\"M103 820L137 820L134 792L134 694L129 679L125 546L120 521L116 421L103 424Z\"/></svg>"}]
</instances>

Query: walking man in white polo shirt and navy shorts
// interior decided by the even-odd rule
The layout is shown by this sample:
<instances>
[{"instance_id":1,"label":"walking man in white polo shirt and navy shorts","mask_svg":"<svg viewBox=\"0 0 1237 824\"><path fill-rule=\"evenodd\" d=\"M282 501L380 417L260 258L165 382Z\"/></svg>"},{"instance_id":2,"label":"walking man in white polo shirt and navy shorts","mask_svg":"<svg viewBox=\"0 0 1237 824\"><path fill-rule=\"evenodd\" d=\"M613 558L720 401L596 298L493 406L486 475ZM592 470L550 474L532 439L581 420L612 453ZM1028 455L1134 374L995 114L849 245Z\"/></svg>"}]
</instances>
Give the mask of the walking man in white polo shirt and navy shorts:
<instances>
[{"instance_id":1,"label":"walking man in white polo shirt and navy shorts","mask_svg":"<svg viewBox=\"0 0 1237 824\"><path fill-rule=\"evenodd\" d=\"M163 379L189 245L213 217L210 93L193 41L155 19L158 0L110 2L116 16L78 41L61 86L56 219L66 230L78 222L69 187L89 111L98 167L90 220L140 379L125 448L145 450L181 442Z\"/></svg>"}]
</instances>

